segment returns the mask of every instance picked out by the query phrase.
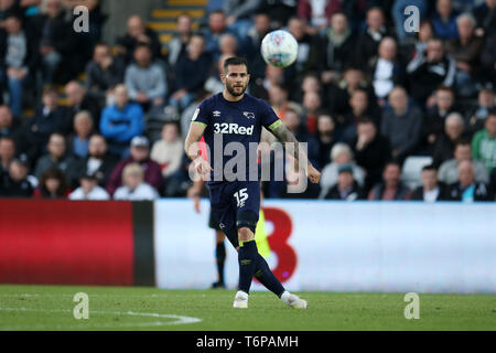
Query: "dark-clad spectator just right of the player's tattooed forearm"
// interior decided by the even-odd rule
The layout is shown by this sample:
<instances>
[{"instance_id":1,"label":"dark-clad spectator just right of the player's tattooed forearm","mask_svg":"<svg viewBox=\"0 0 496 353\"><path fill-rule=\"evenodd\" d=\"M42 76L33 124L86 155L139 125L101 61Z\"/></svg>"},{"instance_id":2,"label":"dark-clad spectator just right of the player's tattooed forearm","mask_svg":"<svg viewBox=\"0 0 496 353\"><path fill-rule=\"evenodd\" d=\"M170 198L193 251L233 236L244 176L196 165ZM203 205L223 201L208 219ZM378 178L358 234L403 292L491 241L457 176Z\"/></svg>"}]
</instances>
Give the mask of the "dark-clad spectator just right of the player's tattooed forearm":
<instances>
[{"instance_id":1,"label":"dark-clad spectator just right of the player's tattooed forearm","mask_svg":"<svg viewBox=\"0 0 496 353\"><path fill-rule=\"evenodd\" d=\"M309 140L309 158L317 169L331 162L331 150L336 143L335 122L333 117L320 111L317 115L316 133Z\"/></svg>"}]
</instances>

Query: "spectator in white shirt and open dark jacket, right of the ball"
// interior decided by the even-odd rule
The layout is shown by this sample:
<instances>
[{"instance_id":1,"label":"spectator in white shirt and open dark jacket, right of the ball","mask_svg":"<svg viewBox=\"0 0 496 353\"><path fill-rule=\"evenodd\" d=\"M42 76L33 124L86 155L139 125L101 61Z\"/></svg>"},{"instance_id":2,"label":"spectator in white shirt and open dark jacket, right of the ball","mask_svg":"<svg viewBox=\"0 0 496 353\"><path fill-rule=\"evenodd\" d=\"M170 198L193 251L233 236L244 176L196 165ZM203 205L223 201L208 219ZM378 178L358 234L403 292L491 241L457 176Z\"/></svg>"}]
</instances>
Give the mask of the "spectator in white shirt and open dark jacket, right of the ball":
<instances>
[{"instance_id":1,"label":"spectator in white shirt and open dark jacket, right of the ball","mask_svg":"<svg viewBox=\"0 0 496 353\"><path fill-rule=\"evenodd\" d=\"M374 56L367 67L373 77L373 85L376 96L385 99L392 87L405 84L405 69L397 57L397 44L392 38L385 36L377 50L378 55Z\"/></svg>"}]
</instances>

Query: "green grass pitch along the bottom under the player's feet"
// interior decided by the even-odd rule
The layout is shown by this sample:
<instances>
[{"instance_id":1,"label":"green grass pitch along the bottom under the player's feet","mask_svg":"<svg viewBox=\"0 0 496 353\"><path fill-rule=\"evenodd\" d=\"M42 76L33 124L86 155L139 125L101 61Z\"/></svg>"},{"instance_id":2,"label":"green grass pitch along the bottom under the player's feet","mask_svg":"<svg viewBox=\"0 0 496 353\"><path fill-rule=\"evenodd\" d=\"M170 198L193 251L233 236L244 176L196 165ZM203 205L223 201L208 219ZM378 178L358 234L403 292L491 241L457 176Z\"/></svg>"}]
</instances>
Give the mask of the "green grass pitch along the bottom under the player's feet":
<instances>
[{"instance_id":1,"label":"green grass pitch along the bottom under the player's feet","mask_svg":"<svg viewBox=\"0 0 496 353\"><path fill-rule=\"evenodd\" d=\"M89 318L76 320L77 292ZM496 296L420 295L420 319L407 320L403 293L301 292L306 310L256 291L233 309L234 290L137 287L0 286L3 330L496 330Z\"/></svg>"}]
</instances>

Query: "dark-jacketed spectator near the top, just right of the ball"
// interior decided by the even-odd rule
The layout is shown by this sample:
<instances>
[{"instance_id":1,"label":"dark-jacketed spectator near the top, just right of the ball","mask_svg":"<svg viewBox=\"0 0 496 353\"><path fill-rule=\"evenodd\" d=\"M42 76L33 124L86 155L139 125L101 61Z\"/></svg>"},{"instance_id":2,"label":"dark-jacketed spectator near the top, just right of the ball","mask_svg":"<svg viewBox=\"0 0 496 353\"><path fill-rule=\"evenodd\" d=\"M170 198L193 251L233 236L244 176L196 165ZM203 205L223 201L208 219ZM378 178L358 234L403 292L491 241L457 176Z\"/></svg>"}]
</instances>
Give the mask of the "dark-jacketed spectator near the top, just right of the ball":
<instances>
[{"instance_id":1,"label":"dark-jacketed spectator near the top, just right of the ball","mask_svg":"<svg viewBox=\"0 0 496 353\"><path fill-rule=\"evenodd\" d=\"M344 73L349 58L355 53L356 36L344 12L335 12L332 15L331 25L323 31L322 36L324 51L320 72L322 82L328 84L337 81Z\"/></svg>"}]
</instances>

